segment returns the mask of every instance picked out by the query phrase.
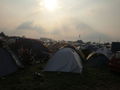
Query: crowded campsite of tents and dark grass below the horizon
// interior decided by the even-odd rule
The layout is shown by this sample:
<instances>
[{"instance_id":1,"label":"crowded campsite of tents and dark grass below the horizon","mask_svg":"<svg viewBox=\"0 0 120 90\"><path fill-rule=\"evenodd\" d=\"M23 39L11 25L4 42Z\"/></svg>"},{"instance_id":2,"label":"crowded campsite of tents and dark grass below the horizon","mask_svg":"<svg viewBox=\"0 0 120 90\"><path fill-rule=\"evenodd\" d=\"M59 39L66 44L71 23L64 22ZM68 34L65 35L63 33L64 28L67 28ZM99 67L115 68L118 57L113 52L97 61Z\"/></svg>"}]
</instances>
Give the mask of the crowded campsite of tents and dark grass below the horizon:
<instances>
[{"instance_id":1,"label":"crowded campsite of tents and dark grass below the horizon","mask_svg":"<svg viewBox=\"0 0 120 90\"><path fill-rule=\"evenodd\" d=\"M108 44L1 37L0 90L120 89L120 73L109 67L111 54L119 51L119 45L115 48L112 43L110 50L105 48Z\"/></svg>"}]
</instances>

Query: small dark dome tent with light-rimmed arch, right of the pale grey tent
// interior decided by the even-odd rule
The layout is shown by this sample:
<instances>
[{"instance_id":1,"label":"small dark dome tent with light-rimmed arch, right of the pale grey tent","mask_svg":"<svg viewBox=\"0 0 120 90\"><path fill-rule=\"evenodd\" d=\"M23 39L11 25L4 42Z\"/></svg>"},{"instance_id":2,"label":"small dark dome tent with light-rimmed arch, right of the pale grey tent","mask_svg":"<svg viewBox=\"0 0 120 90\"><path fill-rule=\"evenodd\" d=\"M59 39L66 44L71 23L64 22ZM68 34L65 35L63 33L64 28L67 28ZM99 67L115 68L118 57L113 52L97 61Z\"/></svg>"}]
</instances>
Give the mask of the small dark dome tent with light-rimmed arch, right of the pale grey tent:
<instances>
[{"instance_id":1,"label":"small dark dome tent with light-rimmed arch, right of the pale grey tent","mask_svg":"<svg viewBox=\"0 0 120 90\"><path fill-rule=\"evenodd\" d=\"M90 67L101 68L106 66L108 61L109 59L104 54L94 52L87 57L86 65Z\"/></svg>"}]
</instances>

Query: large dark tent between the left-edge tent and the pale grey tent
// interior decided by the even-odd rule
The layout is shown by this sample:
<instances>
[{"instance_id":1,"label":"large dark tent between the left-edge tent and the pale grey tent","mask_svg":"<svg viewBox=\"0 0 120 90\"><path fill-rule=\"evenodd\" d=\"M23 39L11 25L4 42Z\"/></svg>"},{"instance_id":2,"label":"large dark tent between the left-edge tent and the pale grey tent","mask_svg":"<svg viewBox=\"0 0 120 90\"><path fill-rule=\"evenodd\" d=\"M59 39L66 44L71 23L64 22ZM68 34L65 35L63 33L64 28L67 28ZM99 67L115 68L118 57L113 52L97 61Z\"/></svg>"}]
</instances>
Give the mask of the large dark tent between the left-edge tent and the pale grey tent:
<instances>
[{"instance_id":1,"label":"large dark tent between the left-edge tent and the pale grey tent","mask_svg":"<svg viewBox=\"0 0 120 90\"><path fill-rule=\"evenodd\" d=\"M49 58L49 49L37 39L18 38L9 46L23 65L46 62Z\"/></svg>"}]
</instances>

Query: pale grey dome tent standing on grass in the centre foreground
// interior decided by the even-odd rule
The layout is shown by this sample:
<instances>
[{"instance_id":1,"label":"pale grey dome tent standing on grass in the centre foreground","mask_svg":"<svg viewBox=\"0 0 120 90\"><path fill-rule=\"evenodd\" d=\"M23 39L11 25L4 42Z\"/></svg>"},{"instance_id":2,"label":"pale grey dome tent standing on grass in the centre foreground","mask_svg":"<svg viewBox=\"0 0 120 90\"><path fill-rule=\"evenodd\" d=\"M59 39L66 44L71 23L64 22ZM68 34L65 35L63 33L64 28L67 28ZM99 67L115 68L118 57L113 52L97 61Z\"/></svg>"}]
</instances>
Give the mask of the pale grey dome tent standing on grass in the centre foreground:
<instances>
[{"instance_id":1,"label":"pale grey dome tent standing on grass in the centre foreground","mask_svg":"<svg viewBox=\"0 0 120 90\"><path fill-rule=\"evenodd\" d=\"M48 61L44 71L81 73L82 60L72 48L62 48Z\"/></svg>"}]
</instances>

